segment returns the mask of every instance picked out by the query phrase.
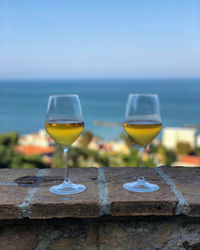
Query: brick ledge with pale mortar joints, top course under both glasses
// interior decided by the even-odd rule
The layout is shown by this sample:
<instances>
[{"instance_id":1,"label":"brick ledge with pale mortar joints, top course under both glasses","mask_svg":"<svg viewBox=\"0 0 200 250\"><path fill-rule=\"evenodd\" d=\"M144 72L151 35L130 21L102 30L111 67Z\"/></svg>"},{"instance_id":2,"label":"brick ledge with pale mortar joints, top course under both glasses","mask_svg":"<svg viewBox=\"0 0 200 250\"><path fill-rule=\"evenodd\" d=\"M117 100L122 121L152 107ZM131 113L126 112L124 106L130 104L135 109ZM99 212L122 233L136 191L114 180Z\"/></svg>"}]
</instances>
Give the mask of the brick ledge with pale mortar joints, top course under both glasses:
<instances>
[{"instance_id":1,"label":"brick ledge with pale mortar joints, top course under both glasses","mask_svg":"<svg viewBox=\"0 0 200 250\"><path fill-rule=\"evenodd\" d=\"M137 168L70 169L73 182L86 185L76 195L54 195L48 189L62 181L64 169L1 169L0 219L99 218L108 216L200 217L200 167L143 168L160 190L132 193L123 184ZM29 177L28 182L26 178Z\"/></svg>"}]
</instances>

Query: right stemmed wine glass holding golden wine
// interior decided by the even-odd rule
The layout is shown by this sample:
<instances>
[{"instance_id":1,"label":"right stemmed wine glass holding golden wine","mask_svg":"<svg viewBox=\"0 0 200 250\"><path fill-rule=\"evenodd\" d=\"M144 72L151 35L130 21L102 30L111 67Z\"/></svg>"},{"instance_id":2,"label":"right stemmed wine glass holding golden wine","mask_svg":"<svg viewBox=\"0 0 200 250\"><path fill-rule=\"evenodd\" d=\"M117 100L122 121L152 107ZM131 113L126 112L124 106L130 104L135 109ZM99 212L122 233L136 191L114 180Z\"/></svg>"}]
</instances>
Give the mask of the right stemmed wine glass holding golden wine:
<instances>
[{"instance_id":1,"label":"right stemmed wine glass holding golden wine","mask_svg":"<svg viewBox=\"0 0 200 250\"><path fill-rule=\"evenodd\" d=\"M140 148L139 178L123 187L132 192L154 192L156 184L147 182L142 176L142 156L145 147L158 135L162 128L159 100L156 94L130 94L128 97L124 129L134 144Z\"/></svg>"}]
</instances>

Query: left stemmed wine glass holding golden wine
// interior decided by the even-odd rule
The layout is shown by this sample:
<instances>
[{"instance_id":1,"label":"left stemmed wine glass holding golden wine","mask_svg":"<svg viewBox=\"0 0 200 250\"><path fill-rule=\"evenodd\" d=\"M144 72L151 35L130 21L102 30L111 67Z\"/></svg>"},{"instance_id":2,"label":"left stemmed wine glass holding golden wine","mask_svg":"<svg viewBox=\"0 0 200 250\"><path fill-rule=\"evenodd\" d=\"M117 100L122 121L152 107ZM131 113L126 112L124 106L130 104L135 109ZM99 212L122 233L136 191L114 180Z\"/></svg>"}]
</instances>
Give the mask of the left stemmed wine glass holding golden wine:
<instances>
[{"instance_id":1,"label":"left stemmed wine glass holding golden wine","mask_svg":"<svg viewBox=\"0 0 200 250\"><path fill-rule=\"evenodd\" d=\"M67 151L84 129L81 104L78 95L52 95L49 97L45 128L49 136L63 146L64 159ZM54 194L77 194L86 187L74 184L69 178L67 163L62 184L52 186L49 191Z\"/></svg>"}]
</instances>

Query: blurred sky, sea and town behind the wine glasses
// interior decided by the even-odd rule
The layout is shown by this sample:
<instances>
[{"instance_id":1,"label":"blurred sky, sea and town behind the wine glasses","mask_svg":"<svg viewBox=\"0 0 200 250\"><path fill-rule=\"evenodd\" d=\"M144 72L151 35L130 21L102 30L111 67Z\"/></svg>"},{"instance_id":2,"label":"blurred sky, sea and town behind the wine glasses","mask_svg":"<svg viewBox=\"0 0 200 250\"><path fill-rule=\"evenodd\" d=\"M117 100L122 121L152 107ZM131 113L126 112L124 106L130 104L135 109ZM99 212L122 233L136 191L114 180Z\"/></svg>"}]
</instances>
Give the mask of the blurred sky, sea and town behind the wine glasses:
<instances>
[{"instance_id":1,"label":"blurred sky, sea and town behind the wine glasses","mask_svg":"<svg viewBox=\"0 0 200 250\"><path fill-rule=\"evenodd\" d=\"M159 96L145 166L200 166L200 2L0 2L0 167L62 167L44 130L48 96L80 97L71 167L138 166L123 130L129 93Z\"/></svg>"}]
</instances>

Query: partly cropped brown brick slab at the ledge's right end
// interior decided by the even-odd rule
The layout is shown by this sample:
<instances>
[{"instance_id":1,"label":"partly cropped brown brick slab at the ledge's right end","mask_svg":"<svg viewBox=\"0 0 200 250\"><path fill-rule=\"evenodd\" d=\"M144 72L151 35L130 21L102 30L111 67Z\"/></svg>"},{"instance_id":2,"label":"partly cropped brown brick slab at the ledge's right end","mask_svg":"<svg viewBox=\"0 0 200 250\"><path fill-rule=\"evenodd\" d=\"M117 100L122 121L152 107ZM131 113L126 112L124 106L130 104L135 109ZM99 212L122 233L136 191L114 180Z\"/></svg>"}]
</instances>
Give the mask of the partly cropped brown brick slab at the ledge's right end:
<instances>
[{"instance_id":1,"label":"partly cropped brown brick slab at the ledge's right end","mask_svg":"<svg viewBox=\"0 0 200 250\"><path fill-rule=\"evenodd\" d=\"M200 216L200 167L163 167L188 205L189 216Z\"/></svg>"}]
</instances>

